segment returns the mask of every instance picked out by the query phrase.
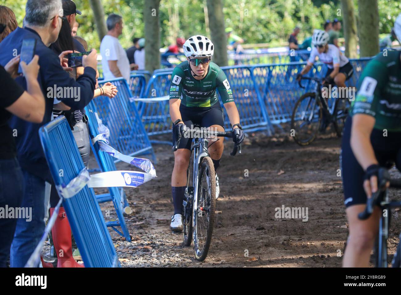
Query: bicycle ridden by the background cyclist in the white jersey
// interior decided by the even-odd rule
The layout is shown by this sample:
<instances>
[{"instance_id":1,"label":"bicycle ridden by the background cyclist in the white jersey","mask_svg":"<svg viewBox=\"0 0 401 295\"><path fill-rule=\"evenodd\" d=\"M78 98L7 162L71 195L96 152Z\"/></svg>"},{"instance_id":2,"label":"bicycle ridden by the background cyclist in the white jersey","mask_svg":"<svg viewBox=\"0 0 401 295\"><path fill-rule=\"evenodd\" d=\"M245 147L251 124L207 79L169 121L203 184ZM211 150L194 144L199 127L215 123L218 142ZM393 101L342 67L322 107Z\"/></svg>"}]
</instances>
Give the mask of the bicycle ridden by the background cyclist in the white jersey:
<instances>
[{"instance_id":1,"label":"bicycle ridden by the background cyclist in the white jersey","mask_svg":"<svg viewBox=\"0 0 401 295\"><path fill-rule=\"evenodd\" d=\"M318 134L318 131L326 130L333 123L339 137L342 136L345 119L348 116L350 102L348 99L336 98L331 107L322 97L322 83L318 78L302 77L301 80L316 82L315 92L308 92L296 102L291 117L291 129L295 130L294 140L299 145L310 144ZM301 85L301 88L305 88Z\"/></svg>"}]
</instances>

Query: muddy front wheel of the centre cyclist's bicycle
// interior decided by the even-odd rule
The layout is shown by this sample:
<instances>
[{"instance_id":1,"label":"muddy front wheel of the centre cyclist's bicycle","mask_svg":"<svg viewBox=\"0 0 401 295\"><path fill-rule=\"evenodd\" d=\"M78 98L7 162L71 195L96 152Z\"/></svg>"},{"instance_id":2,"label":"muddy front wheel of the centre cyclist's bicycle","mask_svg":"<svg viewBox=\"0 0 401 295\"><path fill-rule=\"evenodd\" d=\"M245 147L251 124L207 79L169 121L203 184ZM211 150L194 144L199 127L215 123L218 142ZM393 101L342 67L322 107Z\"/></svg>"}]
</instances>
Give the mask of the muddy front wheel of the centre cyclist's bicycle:
<instances>
[{"instance_id":1,"label":"muddy front wheel of the centre cyclist's bicycle","mask_svg":"<svg viewBox=\"0 0 401 295\"><path fill-rule=\"evenodd\" d=\"M205 260L212 242L216 210L215 167L210 157L203 158L198 175L197 208L194 208L194 251L196 260Z\"/></svg>"}]
</instances>

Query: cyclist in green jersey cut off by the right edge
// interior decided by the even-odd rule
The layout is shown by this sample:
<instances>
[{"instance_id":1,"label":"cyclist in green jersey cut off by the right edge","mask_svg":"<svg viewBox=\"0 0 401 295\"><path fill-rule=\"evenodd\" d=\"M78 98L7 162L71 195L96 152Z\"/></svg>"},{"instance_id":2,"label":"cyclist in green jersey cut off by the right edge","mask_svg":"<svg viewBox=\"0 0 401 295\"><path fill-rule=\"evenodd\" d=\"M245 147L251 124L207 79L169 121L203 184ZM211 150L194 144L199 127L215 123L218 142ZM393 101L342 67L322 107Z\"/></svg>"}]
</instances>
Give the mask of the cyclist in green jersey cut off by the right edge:
<instances>
[{"instance_id":1,"label":"cyclist in green jersey cut off by the right edge","mask_svg":"<svg viewBox=\"0 0 401 295\"><path fill-rule=\"evenodd\" d=\"M395 22L401 38L401 14ZM378 189L380 167L401 169L401 51L379 53L365 67L342 137L340 165L349 236L343 267L369 267L379 228L379 207L367 220L358 214ZM387 184L388 185L388 184Z\"/></svg>"}]
</instances>

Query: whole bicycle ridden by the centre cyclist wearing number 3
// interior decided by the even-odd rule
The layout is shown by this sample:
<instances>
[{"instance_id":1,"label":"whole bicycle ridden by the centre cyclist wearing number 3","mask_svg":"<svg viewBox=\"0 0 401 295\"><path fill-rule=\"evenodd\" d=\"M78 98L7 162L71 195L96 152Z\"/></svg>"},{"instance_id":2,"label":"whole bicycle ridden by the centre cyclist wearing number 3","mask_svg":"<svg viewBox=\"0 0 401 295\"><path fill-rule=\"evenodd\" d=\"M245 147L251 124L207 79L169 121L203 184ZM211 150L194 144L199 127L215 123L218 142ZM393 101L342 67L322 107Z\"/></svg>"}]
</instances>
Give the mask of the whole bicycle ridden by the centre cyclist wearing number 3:
<instances>
[{"instance_id":1,"label":"whole bicycle ridden by the centre cyclist wearing number 3","mask_svg":"<svg viewBox=\"0 0 401 295\"><path fill-rule=\"evenodd\" d=\"M195 125L194 127L199 126ZM195 138L195 143L191 148L191 160L186 172L187 183L182 204L184 212L182 215L182 232L184 245L190 246L193 239L195 258L203 261L207 256L212 241L216 209L216 173L207 149L208 139L210 138L205 137L232 138L232 134L231 132L200 131L197 128L187 128L184 136ZM174 144L173 151L178 149L180 140L181 136ZM234 156L237 151L241 153L241 144L234 144L230 155Z\"/></svg>"}]
</instances>

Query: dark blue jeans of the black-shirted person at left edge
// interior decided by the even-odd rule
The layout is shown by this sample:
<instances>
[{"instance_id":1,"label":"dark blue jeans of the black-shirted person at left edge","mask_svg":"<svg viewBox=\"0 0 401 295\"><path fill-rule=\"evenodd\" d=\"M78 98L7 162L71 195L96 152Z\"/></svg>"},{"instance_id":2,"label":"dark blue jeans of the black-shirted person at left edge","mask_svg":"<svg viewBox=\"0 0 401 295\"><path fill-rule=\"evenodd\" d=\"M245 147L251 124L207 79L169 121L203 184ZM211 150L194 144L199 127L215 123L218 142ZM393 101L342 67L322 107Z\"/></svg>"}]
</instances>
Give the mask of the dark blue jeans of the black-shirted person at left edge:
<instances>
[{"instance_id":1,"label":"dark blue jeans of the black-shirted person at left edge","mask_svg":"<svg viewBox=\"0 0 401 295\"><path fill-rule=\"evenodd\" d=\"M7 214L6 206L20 207L23 194L24 178L17 159L0 159L0 208L3 208L2 210ZM16 224L16 218L0 218L0 267L7 267Z\"/></svg>"}]
</instances>

